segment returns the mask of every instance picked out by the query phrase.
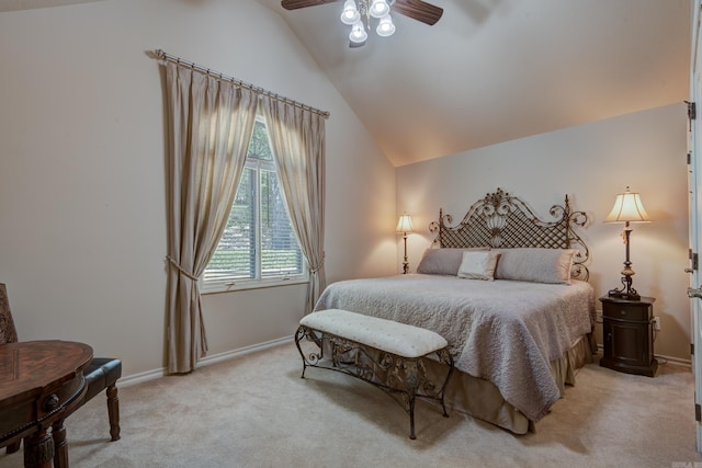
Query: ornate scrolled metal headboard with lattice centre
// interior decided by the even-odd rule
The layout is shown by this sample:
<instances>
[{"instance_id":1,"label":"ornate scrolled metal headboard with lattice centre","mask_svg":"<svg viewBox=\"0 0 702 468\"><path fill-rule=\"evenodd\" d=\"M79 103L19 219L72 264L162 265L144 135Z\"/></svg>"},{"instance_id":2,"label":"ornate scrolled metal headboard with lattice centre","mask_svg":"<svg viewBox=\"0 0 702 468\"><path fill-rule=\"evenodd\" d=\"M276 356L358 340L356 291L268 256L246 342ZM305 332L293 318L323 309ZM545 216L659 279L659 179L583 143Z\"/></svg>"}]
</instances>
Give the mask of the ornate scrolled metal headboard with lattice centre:
<instances>
[{"instance_id":1,"label":"ornate scrolled metal headboard with lattice centre","mask_svg":"<svg viewBox=\"0 0 702 468\"><path fill-rule=\"evenodd\" d=\"M585 263L590 253L574 227L585 226L588 215L571 212L568 195L564 206L554 205L548 213L555 220L540 219L522 199L497 189L497 192L488 193L474 203L456 226L450 226L453 217L440 209L439 221L432 221L429 231L437 233L433 244L441 248L576 249L578 253L574 258L570 276L587 281L590 272Z\"/></svg>"}]
</instances>

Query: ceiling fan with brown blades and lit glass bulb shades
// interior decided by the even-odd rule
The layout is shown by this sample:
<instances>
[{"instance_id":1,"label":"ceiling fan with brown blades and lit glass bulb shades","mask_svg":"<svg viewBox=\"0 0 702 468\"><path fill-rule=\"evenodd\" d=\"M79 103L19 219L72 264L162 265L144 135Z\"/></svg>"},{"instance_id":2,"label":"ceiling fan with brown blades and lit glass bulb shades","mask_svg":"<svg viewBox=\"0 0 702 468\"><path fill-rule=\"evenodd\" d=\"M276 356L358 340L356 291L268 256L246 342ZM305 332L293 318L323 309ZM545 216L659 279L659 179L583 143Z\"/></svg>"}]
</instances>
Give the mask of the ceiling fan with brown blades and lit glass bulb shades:
<instances>
[{"instance_id":1,"label":"ceiling fan with brown blades and lit glass bulb shades","mask_svg":"<svg viewBox=\"0 0 702 468\"><path fill-rule=\"evenodd\" d=\"M336 3L341 0L282 0L285 10ZM371 27L371 18L378 19L377 34L389 36L395 25L389 13L399 13L412 20L433 25L441 19L443 9L422 0L344 0L341 22L351 26L349 47L361 47L367 39L366 30Z\"/></svg>"}]
</instances>

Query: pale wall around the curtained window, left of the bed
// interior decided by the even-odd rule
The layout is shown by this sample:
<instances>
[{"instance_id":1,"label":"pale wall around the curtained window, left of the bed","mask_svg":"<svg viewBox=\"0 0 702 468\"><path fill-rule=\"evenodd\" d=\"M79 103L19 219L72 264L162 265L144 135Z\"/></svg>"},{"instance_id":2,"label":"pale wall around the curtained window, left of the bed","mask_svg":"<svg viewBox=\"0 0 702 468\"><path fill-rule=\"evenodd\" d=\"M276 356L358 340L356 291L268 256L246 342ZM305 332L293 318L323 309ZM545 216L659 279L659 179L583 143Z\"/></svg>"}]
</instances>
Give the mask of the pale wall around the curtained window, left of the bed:
<instances>
[{"instance_id":1,"label":"pale wall around the curtained window, left of the bed","mask_svg":"<svg viewBox=\"0 0 702 468\"><path fill-rule=\"evenodd\" d=\"M280 16L230 0L0 13L0 282L21 340L163 366L162 48L329 111L327 275L394 273L395 170ZM205 296L211 354L291 335L304 286Z\"/></svg>"}]
</instances>

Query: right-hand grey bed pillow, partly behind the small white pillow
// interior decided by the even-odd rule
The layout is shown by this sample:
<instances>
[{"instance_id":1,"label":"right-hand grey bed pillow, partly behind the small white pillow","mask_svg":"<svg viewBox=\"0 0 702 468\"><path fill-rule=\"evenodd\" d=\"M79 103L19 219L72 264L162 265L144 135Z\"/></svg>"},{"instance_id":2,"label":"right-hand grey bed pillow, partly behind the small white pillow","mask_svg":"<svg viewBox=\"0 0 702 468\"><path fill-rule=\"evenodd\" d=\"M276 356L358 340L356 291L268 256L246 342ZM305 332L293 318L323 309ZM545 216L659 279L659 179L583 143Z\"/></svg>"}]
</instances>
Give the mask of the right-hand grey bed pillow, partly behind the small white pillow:
<instances>
[{"instance_id":1,"label":"right-hand grey bed pillow, partly behind the small white pillow","mask_svg":"<svg viewBox=\"0 0 702 468\"><path fill-rule=\"evenodd\" d=\"M500 249L495 277L534 283L570 284L575 249Z\"/></svg>"}]
</instances>

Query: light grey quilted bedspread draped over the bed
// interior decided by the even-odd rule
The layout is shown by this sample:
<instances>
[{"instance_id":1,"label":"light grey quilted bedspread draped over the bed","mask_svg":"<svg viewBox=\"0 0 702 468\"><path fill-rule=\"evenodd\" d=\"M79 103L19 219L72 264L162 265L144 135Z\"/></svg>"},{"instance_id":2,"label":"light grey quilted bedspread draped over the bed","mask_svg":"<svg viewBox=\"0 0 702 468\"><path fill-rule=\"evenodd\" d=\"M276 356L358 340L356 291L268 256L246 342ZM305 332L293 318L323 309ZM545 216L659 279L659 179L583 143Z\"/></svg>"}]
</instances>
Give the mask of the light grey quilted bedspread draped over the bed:
<instances>
[{"instance_id":1,"label":"light grey quilted bedspread draped over the bed","mask_svg":"<svg viewBox=\"0 0 702 468\"><path fill-rule=\"evenodd\" d=\"M591 331L595 290L571 285L399 275L331 284L315 311L346 309L432 330L455 366L491 381L531 421L561 398L550 362Z\"/></svg>"}]
</instances>

